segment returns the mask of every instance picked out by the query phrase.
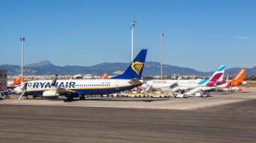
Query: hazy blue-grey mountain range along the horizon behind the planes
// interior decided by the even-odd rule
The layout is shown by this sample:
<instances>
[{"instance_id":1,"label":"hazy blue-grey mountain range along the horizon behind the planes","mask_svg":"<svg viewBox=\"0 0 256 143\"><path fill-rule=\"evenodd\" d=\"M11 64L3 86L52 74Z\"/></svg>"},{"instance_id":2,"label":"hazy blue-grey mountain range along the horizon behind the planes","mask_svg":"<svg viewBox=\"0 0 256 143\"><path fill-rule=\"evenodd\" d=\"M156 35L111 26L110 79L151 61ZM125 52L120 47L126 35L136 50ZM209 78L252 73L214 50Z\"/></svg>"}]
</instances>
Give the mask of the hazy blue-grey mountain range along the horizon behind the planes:
<instances>
[{"instance_id":1,"label":"hazy blue-grey mountain range along the horizon behind the planes","mask_svg":"<svg viewBox=\"0 0 256 143\"><path fill-rule=\"evenodd\" d=\"M115 71L124 71L129 66L129 63L123 62L105 62L102 64L96 64L90 67L85 66L56 66L50 61L42 61L33 64L26 64L23 67L24 75L46 75L46 74L60 74L60 75L75 75L75 74L92 74L92 75L102 75L107 72L109 75L114 74ZM160 66L159 62L145 62L144 65L144 76L156 76L160 75ZM218 68L218 67L215 67ZM0 69L7 69L7 74L9 76L18 75L21 73L21 67L18 65L2 64ZM236 74L240 70L240 67L235 67L231 69L226 69L225 73L230 72L231 75ZM177 67L171 66L168 64L163 64L163 74L164 76L176 75L196 75L196 76L210 76L214 71L203 72L196 71L195 69L186 68L186 67ZM245 75L256 76L256 66L247 69Z\"/></svg>"}]
</instances>

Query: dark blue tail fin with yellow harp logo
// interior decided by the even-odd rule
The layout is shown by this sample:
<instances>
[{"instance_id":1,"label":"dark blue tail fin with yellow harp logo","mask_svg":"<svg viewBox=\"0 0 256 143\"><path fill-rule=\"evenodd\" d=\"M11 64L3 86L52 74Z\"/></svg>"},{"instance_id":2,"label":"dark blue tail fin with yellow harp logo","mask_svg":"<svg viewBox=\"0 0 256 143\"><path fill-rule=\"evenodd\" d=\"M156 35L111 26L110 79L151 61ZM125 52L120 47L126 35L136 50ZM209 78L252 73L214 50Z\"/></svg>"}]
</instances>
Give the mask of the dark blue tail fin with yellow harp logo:
<instances>
[{"instance_id":1,"label":"dark blue tail fin with yellow harp logo","mask_svg":"<svg viewBox=\"0 0 256 143\"><path fill-rule=\"evenodd\" d=\"M129 67L119 76L114 76L112 79L142 79L142 71L146 59L147 50L141 50L137 57L132 61Z\"/></svg>"}]
</instances>

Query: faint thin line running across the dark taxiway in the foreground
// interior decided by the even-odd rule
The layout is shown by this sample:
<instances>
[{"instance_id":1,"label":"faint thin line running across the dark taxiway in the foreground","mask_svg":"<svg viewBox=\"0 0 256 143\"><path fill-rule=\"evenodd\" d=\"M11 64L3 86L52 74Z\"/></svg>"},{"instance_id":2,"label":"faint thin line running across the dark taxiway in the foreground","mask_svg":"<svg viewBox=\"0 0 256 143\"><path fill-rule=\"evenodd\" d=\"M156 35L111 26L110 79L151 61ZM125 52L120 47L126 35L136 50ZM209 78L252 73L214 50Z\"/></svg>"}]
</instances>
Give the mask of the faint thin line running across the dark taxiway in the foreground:
<instances>
[{"instance_id":1,"label":"faint thin line running across the dark taxiway in the foreground","mask_svg":"<svg viewBox=\"0 0 256 143\"><path fill-rule=\"evenodd\" d=\"M239 127L239 126L227 126L227 125L202 125L202 124L188 124L178 122L142 122L142 121L124 121L124 120L98 120L98 119L78 119L78 118L47 118L47 117L35 117L35 116L11 116L0 115L0 118L26 118L26 119L45 119L45 120L73 120L73 121L89 121L89 122L127 122L127 123L139 123L139 124L154 124L154 125L188 125L198 127L223 127L231 129L250 129L256 130L256 127Z\"/></svg>"}]
</instances>

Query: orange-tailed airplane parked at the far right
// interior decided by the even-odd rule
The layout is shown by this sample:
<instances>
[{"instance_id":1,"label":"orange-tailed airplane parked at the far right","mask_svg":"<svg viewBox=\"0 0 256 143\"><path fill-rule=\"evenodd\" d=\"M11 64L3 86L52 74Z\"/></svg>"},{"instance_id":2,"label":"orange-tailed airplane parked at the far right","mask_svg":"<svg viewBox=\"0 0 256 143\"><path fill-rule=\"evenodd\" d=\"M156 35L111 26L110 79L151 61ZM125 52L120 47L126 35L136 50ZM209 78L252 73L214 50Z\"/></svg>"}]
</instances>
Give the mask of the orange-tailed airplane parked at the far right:
<instances>
[{"instance_id":1,"label":"orange-tailed airplane parked at the far right","mask_svg":"<svg viewBox=\"0 0 256 143\"><path fill-rule=\"evenodd\" d=\"M238 71L237 74L233 77L231 80L225 81L224 84L213 86L213 88L230 88L235 86L241 86L242 84L246 84L245 81L243 81L245 76L246 69L242 68L240 71Z\"/></svg>"}]
</instances>

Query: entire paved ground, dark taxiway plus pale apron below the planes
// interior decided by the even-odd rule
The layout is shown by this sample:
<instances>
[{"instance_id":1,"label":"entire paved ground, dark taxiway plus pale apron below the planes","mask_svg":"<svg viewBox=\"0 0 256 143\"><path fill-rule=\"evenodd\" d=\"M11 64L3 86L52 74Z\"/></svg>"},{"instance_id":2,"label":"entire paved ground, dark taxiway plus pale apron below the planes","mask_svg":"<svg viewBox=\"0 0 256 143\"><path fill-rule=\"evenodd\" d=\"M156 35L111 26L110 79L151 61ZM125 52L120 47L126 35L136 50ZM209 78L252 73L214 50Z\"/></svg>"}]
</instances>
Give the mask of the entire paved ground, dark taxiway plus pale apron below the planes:
<instances>
[{"instance_id":1,"label":"entire paved ground, dark taxiway plus pale apron below the planes","mask_svg":"<svg viewBox=\"0 0 256 143\"><path fill-rule=\"evenodd\" d=\"M203 103L200 108L189 105L185 109L142 108L142 105L87 107L63 101L38 105L45 101L14 103L16 100L9 99L0 105L0 142L256 142L255 93L253 90L241 93L244 96L240 100L240 93L222 96L215 93L211 98L105 101L117 106L181 101L184 103L179 106L186 106L189 100L197 105L202 99L210 104L220 97L227 101L210 106Z\"/></svg>"}]
</instances>

